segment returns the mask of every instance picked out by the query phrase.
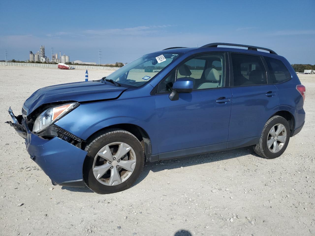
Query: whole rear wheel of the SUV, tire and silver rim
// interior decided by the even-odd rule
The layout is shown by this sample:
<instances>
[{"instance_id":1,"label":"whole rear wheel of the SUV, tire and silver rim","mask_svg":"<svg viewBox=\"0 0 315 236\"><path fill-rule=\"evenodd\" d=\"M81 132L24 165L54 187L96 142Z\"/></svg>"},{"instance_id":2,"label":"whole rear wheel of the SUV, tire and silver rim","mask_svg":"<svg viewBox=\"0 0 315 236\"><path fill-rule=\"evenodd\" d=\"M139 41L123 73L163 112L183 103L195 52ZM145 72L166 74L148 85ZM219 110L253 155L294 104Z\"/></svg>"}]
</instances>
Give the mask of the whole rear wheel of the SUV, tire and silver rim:
<instances>
[{"instance_id":1,"label":"whole rear wheel of the SUV, tire and silver rim","mask_svg":"<svg viewBox=\"0 0 315 236\"><path fill-rule=\"evenodd\" d=\"M275 115L265 124L259 143L254 146L256 154L267 159L281 156L290 139L289 123L282 116Z\"/></svg>"}]
</instances>

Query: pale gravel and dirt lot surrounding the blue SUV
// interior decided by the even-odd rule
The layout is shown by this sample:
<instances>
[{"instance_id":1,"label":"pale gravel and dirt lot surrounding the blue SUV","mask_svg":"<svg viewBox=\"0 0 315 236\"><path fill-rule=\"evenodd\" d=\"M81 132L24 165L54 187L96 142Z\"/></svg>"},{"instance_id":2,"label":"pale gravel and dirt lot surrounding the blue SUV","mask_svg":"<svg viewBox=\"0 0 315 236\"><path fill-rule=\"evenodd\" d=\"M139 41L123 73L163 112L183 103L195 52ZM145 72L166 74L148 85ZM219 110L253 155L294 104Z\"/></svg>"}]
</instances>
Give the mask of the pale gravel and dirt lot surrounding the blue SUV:
<instances>
[{"instance_id":1,"label":"pale gravel and dirt lot surrounding the blue SUV","mask_svg":"<svg viewBox=\"0 0 315 236\"><path fill-rule=\"evenodd\" d=\"M315 235L314 75L299 75L306 123L278 159L243 148L147 163L135 186L99 195L52 186L4 123L9 106L84 72L0 66L0 235Z\"/></svg>"}]
</instances>

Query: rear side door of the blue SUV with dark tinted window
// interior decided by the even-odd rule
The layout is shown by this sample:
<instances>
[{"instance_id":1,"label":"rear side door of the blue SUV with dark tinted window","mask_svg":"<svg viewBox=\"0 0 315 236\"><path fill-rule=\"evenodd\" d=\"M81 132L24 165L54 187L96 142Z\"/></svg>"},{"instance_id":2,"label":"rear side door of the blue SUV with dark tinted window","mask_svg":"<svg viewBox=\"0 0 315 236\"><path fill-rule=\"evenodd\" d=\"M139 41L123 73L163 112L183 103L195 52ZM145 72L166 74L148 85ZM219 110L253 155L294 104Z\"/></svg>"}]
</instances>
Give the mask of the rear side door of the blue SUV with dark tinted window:
<instances>
[{"instance_id":1,"label":"rear side door of the blue SUV with dark tinted window","mask_svg":"<svg viewBox=\"0 0 315 236\"><path fill-rule=\"evenodd\" d=\"M266 121L278 111L279 99L261 56L230 53L230 62L232 109L228 148L233 148L259 140Z\"/></svg>"}]
</instances>

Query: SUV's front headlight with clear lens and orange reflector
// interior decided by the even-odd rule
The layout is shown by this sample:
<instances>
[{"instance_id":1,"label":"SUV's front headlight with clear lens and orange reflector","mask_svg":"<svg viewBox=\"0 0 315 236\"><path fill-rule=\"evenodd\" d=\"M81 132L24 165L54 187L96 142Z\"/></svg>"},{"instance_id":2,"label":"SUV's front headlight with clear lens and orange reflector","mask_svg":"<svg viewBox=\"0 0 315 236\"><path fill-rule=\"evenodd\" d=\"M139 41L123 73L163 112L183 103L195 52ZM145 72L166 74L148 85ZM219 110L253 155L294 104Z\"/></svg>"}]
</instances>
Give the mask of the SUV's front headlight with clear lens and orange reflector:
<instances>
[{"instance_id":1,"label":"SUV's front headlight with clear lens and orange reflector","mask_svg":"<svg viewBox=\"0 0 315 236\"><path fill-rule=\"evenodd\" d=\"M78 103L67 103L44 110L40 115L37 116L34 122L33 132L42 132L44 129L54 123L54 121L58 120L68 111L76 108L77 106Z\"/></svg>"}]
</instances>

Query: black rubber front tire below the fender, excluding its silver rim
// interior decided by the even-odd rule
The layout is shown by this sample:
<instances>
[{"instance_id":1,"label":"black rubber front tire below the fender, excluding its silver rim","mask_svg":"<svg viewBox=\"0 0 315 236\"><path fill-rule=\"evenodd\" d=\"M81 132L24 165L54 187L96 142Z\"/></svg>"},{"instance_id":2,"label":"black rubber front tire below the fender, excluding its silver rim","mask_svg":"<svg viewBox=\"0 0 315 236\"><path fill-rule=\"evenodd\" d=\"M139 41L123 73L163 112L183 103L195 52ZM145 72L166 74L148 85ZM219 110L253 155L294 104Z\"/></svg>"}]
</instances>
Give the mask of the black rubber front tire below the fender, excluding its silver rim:
<instances>
[{"instance_id":1,"label":"black rubber front tire below the fender, excluding its silver rim","mask_svg":"<svg viewBox=\"0 0 315 236\"><path fill-rule=\"evenodd\" d=\"M139 177L144 165L144 151L139 140L130 132L121 129L110 129L94 136L85 147L88 152L83 164L83 181L85 185L98 194L111 194L123 191L132 186ZM107 186L100 183L93 174L93 162L97 152L109 143L127 143L136 155L135 169L128 179L118 185Z\"/></svg>"}]
</instances>

